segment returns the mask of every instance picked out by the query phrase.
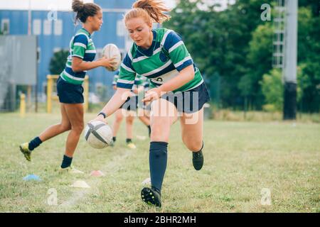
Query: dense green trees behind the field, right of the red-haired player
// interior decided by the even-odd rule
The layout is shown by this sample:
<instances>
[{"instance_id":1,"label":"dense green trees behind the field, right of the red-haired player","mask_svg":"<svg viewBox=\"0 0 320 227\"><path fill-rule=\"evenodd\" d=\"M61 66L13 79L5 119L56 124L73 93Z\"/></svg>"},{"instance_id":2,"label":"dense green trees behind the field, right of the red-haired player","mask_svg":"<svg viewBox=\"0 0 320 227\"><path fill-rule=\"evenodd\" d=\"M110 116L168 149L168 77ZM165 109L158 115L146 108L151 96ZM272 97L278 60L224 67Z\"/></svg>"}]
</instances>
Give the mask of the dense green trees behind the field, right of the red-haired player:
<instances>
[{"instance_id":1,"label":"dense green trees behind the field, right of the red-haired player","mask_svg":"<svg viewBox=\"0 0 320 227\"><path fill-rule=\"evenodd\" d=\"M262 109L266 97L260 81L272 69L273 27L262 21L262 0L238 0L225 11L198 9L184 0L164 24L181 34L210 89L220 88L222 107L242 108L246 100ZM272 13L277 2L270 1ZM298 65L304 111L320 110L320 1L299 1ZM272 16L272 19L274 16ZM219 83L219 84L216 84ZM212 93L212 92L211 92ZM281 95L282 96L282 95Z\"/></svg>"}]
</instances>

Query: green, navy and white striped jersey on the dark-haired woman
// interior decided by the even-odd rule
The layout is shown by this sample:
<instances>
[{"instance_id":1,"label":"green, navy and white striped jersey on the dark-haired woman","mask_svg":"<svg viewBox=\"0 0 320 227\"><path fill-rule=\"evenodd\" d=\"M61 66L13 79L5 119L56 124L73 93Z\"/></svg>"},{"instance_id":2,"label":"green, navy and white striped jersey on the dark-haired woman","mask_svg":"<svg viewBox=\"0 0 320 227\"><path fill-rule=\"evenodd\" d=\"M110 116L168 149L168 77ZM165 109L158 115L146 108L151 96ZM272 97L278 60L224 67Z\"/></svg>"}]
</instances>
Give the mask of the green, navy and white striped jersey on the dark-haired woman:
<instances>
[{"instance_id":1,"label":"green, navy and white striped jersey on the dark-haired woman","mask_svg":"<svg viewBox=\"0 0 320 227\"><path fill-rule=\"evenodd\" d=\"M81 28L70 40L68 60L60 77L70 84L82 84L87 71L73 72L73 57L80 57L85 62L92 62L95 59L95 54L95 45L92 42L90 33L85 28Z\"/></svg>"}]
</instances>

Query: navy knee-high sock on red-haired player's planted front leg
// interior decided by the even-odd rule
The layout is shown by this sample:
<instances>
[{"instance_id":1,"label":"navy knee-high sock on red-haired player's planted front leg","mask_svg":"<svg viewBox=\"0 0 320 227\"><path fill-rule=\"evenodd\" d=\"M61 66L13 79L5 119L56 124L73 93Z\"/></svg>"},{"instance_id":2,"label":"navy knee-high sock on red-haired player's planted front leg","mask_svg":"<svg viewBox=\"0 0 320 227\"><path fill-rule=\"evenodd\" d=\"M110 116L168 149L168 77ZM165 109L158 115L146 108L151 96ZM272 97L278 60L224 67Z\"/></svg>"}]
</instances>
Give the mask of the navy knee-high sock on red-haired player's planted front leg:
<instances>
[{"instance_id":1,"label":"navy knee-high sock on red-haired player's planted front leg","mask_svg":"<svg viewBox=\"0 0 320 227\"><path fill-rule=\"evenodd\" d=\"M149 166L151 186L161 192L162 182L164 181L164 173L166 172L166 162L168 143L151 142L149 152Z\"/></svg>"}]
</instances>

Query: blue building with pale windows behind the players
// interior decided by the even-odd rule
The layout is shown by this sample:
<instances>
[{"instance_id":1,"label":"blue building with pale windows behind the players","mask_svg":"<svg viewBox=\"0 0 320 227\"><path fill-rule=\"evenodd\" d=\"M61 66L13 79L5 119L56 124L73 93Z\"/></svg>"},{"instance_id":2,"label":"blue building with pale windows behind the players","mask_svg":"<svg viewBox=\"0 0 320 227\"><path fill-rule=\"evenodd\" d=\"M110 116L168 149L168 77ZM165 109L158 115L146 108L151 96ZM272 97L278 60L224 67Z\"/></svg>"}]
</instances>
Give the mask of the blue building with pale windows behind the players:
<instances>
[{"instance_id":1,"label":"blue building with pale windows behind the players","mask_svg":"<svg viewBox=\"0 0 320 227\"><path fill-rule=\"evenodd\" d=\"M26 4L15 6L14 9L0 8L1 31L4 35L36 35L38 38L38 94L46 92L46 76L50 74L49 64L53 53L61 49L68 50L72 36L80 25L75 26L75 13L61 9L60 4L50 4L58 1L41 1L40 5ZM29 1L31 2L31 1ZM47 2L47 4L45 3ZM122 18L129 10L134 0L96 0L102 7L103 25L101 31L92 35L97 48L97 57L101 57L102 48L107 43L114 43L122 53L131 44ZM37 3L38 4L38 3ZM31 7L31 9L29 9ZM21 53L28 54L28 53ZM96 57L96 58L97 58ZM105 68L97 68L88 72L90 76L90 92L112 84L113 73ZM111 89L110 89L111 90Z\"/></svg>"}]
</instances>

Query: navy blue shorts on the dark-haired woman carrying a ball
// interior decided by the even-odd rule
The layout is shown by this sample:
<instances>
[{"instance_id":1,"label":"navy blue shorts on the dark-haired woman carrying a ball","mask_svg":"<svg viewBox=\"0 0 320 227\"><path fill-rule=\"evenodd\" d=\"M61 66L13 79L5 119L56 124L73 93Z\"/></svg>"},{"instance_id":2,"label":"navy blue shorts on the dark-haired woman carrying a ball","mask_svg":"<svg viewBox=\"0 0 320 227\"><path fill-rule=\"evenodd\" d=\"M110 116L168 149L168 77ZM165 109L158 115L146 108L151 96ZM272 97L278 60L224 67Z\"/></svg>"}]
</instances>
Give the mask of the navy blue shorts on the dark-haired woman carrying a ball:
<instances>
[{"instance_id":1,"label":"navy blue shorts on the dark-haired woman carrying a ball","mask_svg":"<svg viewBox=\"0 0 320 227\"><path fill-rule=\"evenodd\" d=\"M80 84L70 84L61 77L57 80L57 93L60 103L83 104L83 87Z\"/></svg>"}]
</instances>

